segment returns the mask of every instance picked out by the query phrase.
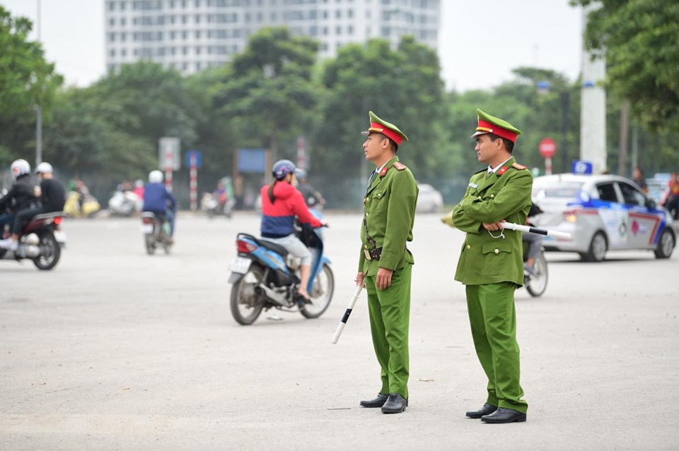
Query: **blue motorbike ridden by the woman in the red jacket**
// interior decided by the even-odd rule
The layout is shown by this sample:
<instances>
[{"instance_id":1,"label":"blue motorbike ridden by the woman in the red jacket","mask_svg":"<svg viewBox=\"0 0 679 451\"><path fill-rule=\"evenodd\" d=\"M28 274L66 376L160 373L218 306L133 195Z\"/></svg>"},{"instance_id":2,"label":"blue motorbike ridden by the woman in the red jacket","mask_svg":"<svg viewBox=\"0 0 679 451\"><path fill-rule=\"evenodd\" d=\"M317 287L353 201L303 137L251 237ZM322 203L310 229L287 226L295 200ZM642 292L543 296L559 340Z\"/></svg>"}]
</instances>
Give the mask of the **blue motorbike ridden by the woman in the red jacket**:
<instances>
[{"instance_id":1,"label":"blue motorbike ridden by the woman in the red jacket","mask_svg":"<svg viewBox=\"0 0 679 451\"><path fill-rule=\"evenodd\" d=\"M318 318L330 306L335 276L330 259L323 254L323 234L308 224L298 224L296 236L312 254L308 285L311 303L303 305L297 301L300 259L277 243L245 233L236 236L238 255L231 262L228 282L233 284L231 314L238 324L253 324L262 310L269 308Z\"/></svg>"}]
</instances>

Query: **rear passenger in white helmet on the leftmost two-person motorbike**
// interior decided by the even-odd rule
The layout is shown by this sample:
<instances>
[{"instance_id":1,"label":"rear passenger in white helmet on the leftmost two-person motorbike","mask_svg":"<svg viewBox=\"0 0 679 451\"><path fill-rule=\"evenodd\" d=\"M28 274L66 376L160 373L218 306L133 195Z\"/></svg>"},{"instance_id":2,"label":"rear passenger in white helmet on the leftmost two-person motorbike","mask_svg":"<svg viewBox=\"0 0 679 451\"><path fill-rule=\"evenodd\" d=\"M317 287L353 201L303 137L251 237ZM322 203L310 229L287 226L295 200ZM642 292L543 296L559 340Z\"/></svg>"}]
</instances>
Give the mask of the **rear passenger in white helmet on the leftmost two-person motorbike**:
<instances>
[{"instance_id":1,"label":"rear passenger in white helmet on the leftmost two-person motorbike","mask_svg":"<svg viewBox=\"0 0 679 451\"><path fill-rule=\"evenodd\" d=\"M66 191L64 186L54 179L52 164L42 162L35 167L35 174L40 177L40 205L37 208L24 208L16 212L16 218L12 223L12 236L9 241L0 241L0 247L16 251L19 243L21 227L28 221L42 215L42 213L60 212L64 210L66 203Z\"/></svg>"}]
</instances>

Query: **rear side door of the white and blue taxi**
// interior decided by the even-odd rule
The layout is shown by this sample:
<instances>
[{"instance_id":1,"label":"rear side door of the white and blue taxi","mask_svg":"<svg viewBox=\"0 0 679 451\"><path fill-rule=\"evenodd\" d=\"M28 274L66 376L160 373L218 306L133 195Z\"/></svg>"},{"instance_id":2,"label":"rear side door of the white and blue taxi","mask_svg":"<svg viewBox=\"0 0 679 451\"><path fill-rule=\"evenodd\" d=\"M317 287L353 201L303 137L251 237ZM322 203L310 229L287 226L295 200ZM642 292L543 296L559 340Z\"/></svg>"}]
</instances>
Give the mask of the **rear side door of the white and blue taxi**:
<instances>
[{"instance_id":1,"label":"rear side door of the white and blue taxi","mask_svg":"<svg viewBox=\"0 0 679 451\"><path fill-rule=\"evenodd\" d=\"M599 198L593 203L596 205L598 216L608 236L608 248L627 248L629 217L621 201L620 189L613 181L603 181L596 184L596 191Z\"/></svg>"}]
</instances>

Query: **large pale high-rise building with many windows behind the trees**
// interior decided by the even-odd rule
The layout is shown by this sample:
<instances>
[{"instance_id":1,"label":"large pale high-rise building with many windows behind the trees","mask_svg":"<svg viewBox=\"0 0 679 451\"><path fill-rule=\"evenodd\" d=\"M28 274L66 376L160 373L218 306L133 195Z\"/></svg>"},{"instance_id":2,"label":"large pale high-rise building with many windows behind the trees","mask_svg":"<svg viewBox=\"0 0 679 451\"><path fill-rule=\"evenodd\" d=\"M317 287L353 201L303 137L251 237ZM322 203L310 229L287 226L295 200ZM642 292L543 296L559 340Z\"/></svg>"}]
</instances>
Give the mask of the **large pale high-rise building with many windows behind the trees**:
<instances>
[{"instance_id":1,"label":"large pale high-rise building with many windows behind the trees","mask_svg":"<svg viewBox=\"0 0 679 451\"><path fill-rule=\"evenodd\" d=\"M320 57L373 37L402 35L436 49L440 0L105 0L108 71L147 59L184 74L220 66L248 36L286 25L320 42Z\"/></svg>"}]
</instances>

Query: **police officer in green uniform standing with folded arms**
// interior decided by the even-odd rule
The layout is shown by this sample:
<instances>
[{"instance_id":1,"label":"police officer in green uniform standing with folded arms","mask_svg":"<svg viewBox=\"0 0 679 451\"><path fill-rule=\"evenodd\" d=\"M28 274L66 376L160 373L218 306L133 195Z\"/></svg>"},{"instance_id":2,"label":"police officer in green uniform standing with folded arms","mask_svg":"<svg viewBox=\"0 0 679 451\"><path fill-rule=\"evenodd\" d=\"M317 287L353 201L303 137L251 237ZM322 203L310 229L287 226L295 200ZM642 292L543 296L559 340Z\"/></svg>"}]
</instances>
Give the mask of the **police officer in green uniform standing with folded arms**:
<instances>
[{"instance_id":1,"label":"police officer in green uniform standing with folded arms","mask_svg":"<svg viewBox=\"0 0 679 451\"><path fill-rule=\"evenodd\" d=\"M476 354L488 377L483 407L467 416L486 423L526 421L521 399L514 291L523 284L521 231L502 222L526 224L533 176L511 155L521 134L506 121L476 110L479 162L487 169L472 175L465 196L452 212L453 227L467 236L455 280L465 284Z\"/></svg>"}]
</instances>

